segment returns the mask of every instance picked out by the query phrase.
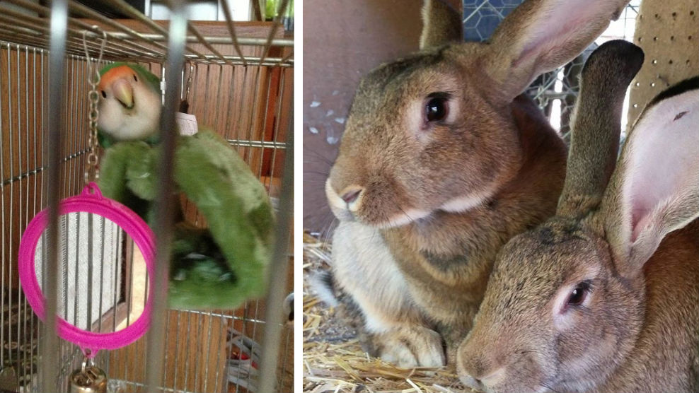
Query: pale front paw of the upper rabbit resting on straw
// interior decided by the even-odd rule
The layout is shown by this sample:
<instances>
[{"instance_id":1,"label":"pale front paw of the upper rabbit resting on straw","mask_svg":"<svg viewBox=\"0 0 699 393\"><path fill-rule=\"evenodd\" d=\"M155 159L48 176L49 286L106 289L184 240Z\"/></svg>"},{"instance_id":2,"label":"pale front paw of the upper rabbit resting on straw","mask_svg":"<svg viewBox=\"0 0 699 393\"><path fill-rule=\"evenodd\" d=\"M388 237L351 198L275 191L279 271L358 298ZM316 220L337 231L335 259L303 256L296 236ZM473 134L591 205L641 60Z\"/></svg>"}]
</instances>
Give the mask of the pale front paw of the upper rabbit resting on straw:
<instances>
[{"instance_id":1,"label":"pale front paw of the upper rabbit resting on straw","mask_svg":"<svg viewBox=\"0 0 699 393\"><path fill-rule=\"evenodd\" d=\"M376 356L400 368L441 367L446 363L441 336L425 327L400 327L374 336Z\"/></svg>"}]
</instances>

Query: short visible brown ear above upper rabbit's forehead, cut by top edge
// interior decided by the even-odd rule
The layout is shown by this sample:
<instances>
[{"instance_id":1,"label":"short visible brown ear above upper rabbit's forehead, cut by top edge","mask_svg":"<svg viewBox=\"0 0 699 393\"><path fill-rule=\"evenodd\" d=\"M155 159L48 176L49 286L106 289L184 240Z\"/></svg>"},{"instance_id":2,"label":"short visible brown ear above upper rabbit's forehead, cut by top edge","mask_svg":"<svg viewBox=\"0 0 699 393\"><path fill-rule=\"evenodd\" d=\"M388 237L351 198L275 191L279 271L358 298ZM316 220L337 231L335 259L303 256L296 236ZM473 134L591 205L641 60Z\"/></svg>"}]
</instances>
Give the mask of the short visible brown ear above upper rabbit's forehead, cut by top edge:
<instances>
[{"instance_id":1,"label":"short visible brown ear above upper rabbit's forehead, cut by top edge","mask_svg":"<svg viewBox=\"0 0 699 393\"><path fill-rule=\"evenodd\" d=\"M424 0L420 49L463 41L461 12L459 8L455 8L455 3L448 0Z\"/></svg>"}]
</instances>

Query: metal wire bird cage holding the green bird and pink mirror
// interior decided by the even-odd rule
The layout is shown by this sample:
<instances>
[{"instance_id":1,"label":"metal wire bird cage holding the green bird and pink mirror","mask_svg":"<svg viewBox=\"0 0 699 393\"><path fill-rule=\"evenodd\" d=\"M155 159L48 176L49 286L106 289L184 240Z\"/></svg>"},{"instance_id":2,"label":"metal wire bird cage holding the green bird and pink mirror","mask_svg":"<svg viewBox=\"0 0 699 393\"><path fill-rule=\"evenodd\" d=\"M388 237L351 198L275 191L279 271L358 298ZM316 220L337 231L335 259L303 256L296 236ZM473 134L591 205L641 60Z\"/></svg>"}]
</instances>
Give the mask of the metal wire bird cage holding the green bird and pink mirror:
<instances>
[{"instance_id":1,"label":"metal wire bird cage holding the green bird and pink mirror","mask_svg":"<svg viewBox=\"0 0 699 393\"><path fill-rule=\"evenodd\" d=\"M95 3L111 6L127 18L108 18L76 1L0 4L0 390L67 390L69 373L83 360L80 348L52 333L52 318L45 326L29 307L18 281L18 245L39 211L47 206L55 209L57 201L79 194L85 186L87 60L96 61L106 37L105 64L137 62L166 82L161 84L166 108L161 124L174 122L175 111L168 112L172 107L168 102L186 99L187 113L229 142L265 184L278 228L265 300L248 300L238 310L168 310L166 293L150 288L151 332L125 348L100 351L96 365L106 371L114 392L291 391L293 333L282 317L283 299L293 281L289 238L294 40L284 29L291 25L289 18L282 18L289 15L284 12L289 1L278 2L275 20L245 23L233 23L225 0L218 4L224 20L216 22L187 22L181 1L166 2L169 23L151 20L125 1ZM167 149L163 156L168 156ZM171 174L172 169L168 171ZM158 203L168 203L159 198ZM192 204L173 203L180 203L192 222L205 225ZM81 217L54 222L64 233L88 230ZM156 221L158 250L169 247L172 225L167 223ZM129 324L143 308L143 293L149 291L141 288L140 298L134 292L145 282L142 257L113 223L90 225L97 234L88 247L103 254L103 267L92 273L111 283L111 292L117 294L111 303L100 300L96 317L67 310L63 316L88 327L98 323L100 329L103 324ZM63 274L64 281L89 288L96 281L81 284L76 278L83 269L75 256L77 247L86 240L83 235L74 241L60 244L62 255L49 258L57 268L74 269L73 278L52 270L51 264L43 276L55 271ZM167 277L167 264L157 264L156 276L163 276L163 271ZM59 299L64 295L51 291L45 289L47 304L54 299L50 295ZM103 305L110 311L102 310Z\"/></svg>"}]
</instances>

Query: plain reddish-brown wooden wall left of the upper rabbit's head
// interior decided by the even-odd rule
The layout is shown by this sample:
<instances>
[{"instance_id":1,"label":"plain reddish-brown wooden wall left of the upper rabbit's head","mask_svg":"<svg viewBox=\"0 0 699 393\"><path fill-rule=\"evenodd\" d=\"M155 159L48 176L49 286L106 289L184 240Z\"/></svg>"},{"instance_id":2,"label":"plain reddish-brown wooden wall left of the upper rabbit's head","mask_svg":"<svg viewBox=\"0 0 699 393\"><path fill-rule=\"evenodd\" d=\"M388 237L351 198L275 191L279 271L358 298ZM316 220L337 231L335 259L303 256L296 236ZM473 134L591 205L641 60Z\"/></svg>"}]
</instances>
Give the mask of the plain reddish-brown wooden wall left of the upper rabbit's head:
<instances>
[{"instance_id":1,"label":"plain reddish-brown wooden wall left of the upper rabbit's head","mask_svg":"<svg viewBox=\"0 0 699 393\"><path fill-rule=\"evenodd\" d=\"M304 228L333 221L324 182L359 78L415 52L421 0L304 1Z\"/></svg>"}]
</instances>

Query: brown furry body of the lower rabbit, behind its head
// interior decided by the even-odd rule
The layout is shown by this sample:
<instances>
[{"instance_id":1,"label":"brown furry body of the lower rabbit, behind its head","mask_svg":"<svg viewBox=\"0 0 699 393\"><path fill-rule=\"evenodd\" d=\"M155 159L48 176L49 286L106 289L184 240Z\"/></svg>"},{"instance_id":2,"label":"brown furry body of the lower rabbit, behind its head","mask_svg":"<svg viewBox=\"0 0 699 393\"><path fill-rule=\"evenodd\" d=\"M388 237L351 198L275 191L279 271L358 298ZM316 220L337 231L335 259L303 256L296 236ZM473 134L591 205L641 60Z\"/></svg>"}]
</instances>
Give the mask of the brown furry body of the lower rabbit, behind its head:
<instances>
[{"instance_id":1,"label":"brown furry body of the lower rabbit, behind its head","mask_svg":"<svg viewBox=\"0 0 699 393\"><path fill-rule=\"evenodd\" d=\"M642 313L635 315L643 329L627 361L599 391L698 391L698 239L699 221L693 221L668 235L646 262L645 319ZM678 353L678 348L686 352Z\"/></svg>"}]
</instances>

